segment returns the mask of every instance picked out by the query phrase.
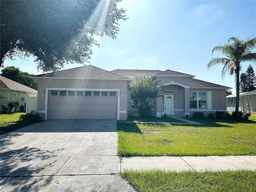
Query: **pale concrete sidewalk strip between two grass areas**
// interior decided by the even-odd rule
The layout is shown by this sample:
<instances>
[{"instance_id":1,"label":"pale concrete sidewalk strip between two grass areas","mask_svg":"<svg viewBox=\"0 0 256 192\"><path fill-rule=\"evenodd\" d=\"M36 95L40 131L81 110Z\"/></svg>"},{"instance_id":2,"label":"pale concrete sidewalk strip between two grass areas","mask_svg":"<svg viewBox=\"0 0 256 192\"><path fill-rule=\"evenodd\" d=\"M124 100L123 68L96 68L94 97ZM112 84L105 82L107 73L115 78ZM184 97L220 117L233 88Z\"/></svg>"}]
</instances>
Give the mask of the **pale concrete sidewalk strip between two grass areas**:
<instances>
[{"instance_id":1,"label":"pale concrete sidewalk strip between two grass areas","mask_svg":"<svg viewBox=\"0 0 256 192\"><path fill-rule=\"evenodd\" d=\"M256 156L158 156L123 158L121 171L134 170L256 170Z\"/></svg>"}]
</instances>

